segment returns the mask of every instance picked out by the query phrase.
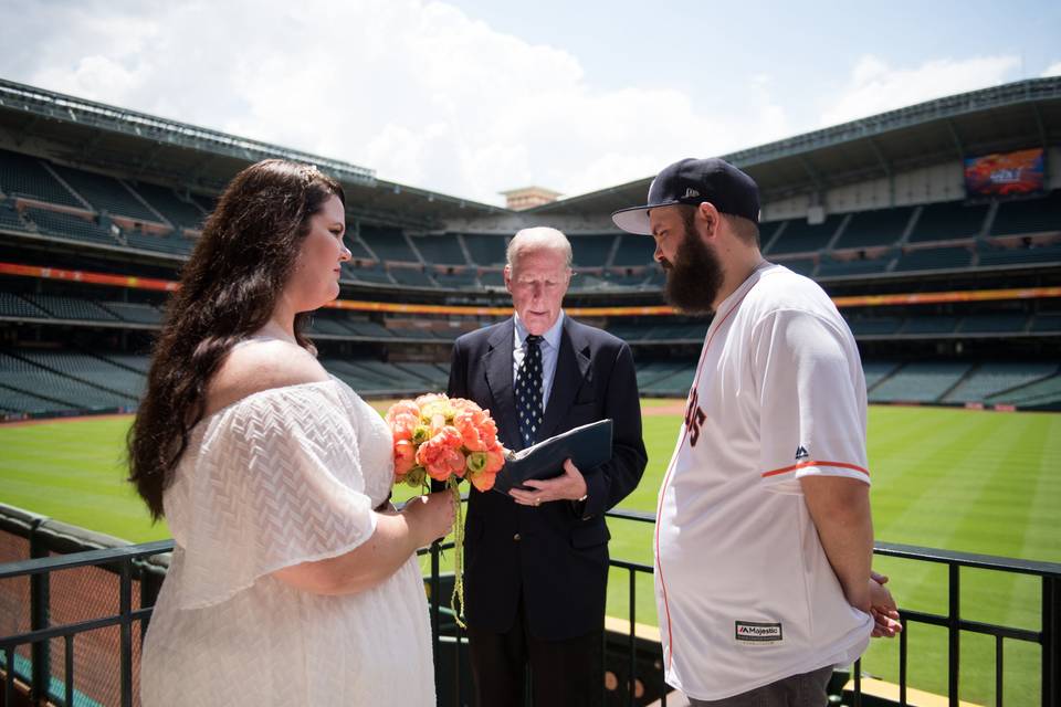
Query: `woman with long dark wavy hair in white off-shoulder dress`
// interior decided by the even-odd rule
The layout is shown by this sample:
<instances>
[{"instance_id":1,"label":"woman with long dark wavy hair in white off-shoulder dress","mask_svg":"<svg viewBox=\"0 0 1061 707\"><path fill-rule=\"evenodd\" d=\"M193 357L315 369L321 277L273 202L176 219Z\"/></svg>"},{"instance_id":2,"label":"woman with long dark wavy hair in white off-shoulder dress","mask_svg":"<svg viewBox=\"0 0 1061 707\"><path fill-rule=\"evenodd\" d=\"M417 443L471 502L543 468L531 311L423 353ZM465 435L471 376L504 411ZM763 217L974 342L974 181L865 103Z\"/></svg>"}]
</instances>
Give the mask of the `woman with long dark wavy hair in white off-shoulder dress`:
<instances>
[{"instance_id":1,"label":"woman with long dark wavy hair in white off-shoulder dress","mask_svg":"<svg viewBox=\"0 0 1061 707\"><path fill-rule=\"evenodd\" d=\"M418 547L449 494L401 513L387 425L317 362L345 197L315 168L237 175L172 296L129 433L132 481L176 542L144 643L155 705L433 705Z\"/></svg>"}]
</instances>

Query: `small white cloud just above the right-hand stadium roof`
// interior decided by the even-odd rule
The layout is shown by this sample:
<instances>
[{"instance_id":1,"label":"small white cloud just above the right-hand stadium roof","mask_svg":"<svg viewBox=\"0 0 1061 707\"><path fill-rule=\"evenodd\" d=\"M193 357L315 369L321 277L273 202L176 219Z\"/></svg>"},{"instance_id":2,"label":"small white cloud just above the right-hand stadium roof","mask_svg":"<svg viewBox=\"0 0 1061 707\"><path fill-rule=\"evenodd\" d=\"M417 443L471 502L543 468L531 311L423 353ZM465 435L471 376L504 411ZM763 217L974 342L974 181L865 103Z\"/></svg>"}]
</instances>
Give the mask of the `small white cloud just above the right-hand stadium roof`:
<instances>
[{"instance_id":1,"label":"small white cloud just above the right-hand stadium roof","mask_svg":"<svg viewBox=\"0 0 1061 707\"><path fill-rule=\"evenodd\" d=\"M1020 67L1019 56L979 56L936 60L913 68L894 68L866 55L851 70L843 93L822 112L821 125L855 118L966 91L1005 83Z\"/></svg>"}]
</instances>

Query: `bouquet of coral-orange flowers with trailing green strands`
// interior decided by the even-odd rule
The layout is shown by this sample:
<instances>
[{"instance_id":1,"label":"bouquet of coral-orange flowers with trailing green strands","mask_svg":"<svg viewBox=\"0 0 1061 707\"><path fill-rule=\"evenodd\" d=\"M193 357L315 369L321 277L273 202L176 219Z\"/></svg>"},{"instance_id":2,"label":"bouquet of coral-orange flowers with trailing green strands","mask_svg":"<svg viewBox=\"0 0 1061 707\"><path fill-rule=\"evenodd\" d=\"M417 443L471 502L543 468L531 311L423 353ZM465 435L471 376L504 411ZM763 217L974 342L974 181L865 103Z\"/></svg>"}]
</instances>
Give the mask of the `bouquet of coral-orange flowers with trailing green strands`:
<instances>
[{"instance_id":1,"label":"bouquet of coral-orange flowers with trailing green strands","mask_svg":"<svg viewBox=\"0 0 1061 707\"><path fill-rule=\"evenodd\" d=\"M454 582L450 606L464 627L458 603L464 606L464 580L461 570L464 521L458 483L468 478L479 490L494 486L497 472L505 465L507 450L497 441L497 425L471 400L442 394L400 400L387 411L395 444L395 481L412 487L427 486L430 476L445 483L456 502L453 526Z\"/></svg>"}]
</instances>

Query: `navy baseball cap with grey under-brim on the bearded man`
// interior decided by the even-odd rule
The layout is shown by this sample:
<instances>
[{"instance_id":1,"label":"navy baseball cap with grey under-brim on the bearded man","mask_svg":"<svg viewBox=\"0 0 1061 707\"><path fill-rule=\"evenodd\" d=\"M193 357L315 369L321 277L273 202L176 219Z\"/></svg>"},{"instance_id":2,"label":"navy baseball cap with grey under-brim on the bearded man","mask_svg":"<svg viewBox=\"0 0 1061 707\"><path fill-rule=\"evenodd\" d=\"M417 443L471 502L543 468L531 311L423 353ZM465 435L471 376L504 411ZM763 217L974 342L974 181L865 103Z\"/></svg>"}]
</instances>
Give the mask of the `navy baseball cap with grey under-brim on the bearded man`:
<instances>
[{"instance_id":1,"label":"navy baseball cap with grey under-brim on the bearded man","mask_svg":"<svg viewBox=\"0 0 1061 707\"><path fill-rule=\"evenodd\" d=\"M755 180L717 157L690 157L664 167L649 187L649 203L620 209L611 214L611 220L628 233L652 235L649 225L652 209L705 201L715 204L721 213L759 222L759 188Z\"/></svg>"}]
</instances>

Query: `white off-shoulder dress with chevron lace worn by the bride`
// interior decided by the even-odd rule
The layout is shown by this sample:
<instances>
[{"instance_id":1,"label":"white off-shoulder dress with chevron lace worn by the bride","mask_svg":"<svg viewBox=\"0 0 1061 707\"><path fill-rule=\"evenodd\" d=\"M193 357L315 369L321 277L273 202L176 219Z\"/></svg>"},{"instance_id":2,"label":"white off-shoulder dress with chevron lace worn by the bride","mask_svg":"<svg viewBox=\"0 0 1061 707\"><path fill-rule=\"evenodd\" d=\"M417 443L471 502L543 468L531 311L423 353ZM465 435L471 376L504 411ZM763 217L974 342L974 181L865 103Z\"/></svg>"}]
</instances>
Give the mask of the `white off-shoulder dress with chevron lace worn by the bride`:
<instances>
[{"instance_id":1,"label":"white off-shoulder dress with chevron lace worn by the bride","mask_svg":"<svg viewBox=\"0 0 1061 707\"><path fill-rule=\"evenodd\" d=\"M144 643L143 704L434 705L414 557L344 597L270 576L365 542L392 464L387 425L335 379L200 422L164 497L176 549Z\"/></svg>"}]
</instances>

